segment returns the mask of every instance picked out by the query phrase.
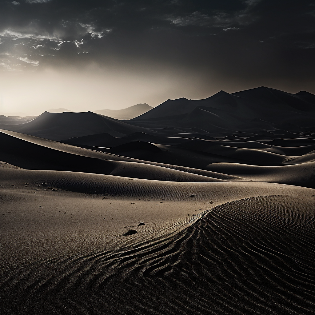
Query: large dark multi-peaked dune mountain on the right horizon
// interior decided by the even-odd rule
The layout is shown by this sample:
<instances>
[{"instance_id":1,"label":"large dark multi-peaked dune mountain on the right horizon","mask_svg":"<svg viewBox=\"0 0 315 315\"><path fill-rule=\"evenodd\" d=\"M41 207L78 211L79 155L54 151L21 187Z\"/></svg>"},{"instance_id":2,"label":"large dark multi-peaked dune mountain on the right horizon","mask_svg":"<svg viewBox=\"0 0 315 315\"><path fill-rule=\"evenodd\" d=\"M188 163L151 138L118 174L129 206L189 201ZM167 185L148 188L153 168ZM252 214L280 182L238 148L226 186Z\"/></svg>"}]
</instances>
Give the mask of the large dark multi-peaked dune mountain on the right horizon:
<instances>
[{"instance_id":1,"label":"large dark multi-peaked dune mountain on the right horizon","mask_svg":"<svg viewBox=\"0 0 315 315\"><path fill-rule=\"evenodd\" d=\"M236 93L220 91L204 100L167 100L128 123L181 132L268 134L315 130L315 95L259 87Z\"/></svg>"}]
</instances>

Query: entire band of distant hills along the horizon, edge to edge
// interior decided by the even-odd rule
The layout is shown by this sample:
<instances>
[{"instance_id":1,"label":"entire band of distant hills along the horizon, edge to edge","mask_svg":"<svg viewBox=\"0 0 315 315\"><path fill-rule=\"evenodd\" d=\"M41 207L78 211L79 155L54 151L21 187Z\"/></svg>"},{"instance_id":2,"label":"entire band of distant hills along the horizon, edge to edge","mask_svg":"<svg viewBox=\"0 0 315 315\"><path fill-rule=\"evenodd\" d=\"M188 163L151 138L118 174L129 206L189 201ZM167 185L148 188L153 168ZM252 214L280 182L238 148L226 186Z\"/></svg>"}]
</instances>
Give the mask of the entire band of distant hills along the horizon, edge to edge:
<instances>
[{"instance_id":1,"label":"entire band of distant hills along the horizon, edge to edge","mask_svg":"<svg viewBox=\"0 0 315 315\"><path fill-rule=\"evenodd\" d=\"M150 110L146 111L147 109ZM146 112L130 119L140 110ZM130 116L126 117L128 113ZM163 143L170 143L174 142L176 135L183 134L189 139L192 134L197 134L199 138L199 135L255 136L315 132L315 95L303 91L292 94L265 87L232 94L220 91L204 100L167 100L155 108L137 104L122 110L95 113L44 112L29 122L0 117L0 129L50 140L98 135L96 138L77 141L91 141L97 146L105 147L112 146L117 141L104 134L112 137L129 137L134 134L132 139L124 140L150 143L160 143L159 137L169 136L172 138ZM105 145L106 143L108 144Z\"/></svg>"}]
</instances>

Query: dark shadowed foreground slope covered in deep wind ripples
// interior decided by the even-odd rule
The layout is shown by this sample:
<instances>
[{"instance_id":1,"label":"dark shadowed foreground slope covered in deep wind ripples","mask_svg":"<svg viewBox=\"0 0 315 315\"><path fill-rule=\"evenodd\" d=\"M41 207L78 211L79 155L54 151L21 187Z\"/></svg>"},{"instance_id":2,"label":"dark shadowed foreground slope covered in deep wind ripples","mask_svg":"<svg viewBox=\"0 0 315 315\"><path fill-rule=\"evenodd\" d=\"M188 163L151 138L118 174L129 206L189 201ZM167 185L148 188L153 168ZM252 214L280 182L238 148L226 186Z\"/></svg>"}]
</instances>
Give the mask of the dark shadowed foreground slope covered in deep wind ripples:
<instances>
[{"instance_id":1,"label":"dark shadowed foreground slope covered in deep wind ripples","mask_svg":"<svg viewBox=\"0 0 315 315\"><path fill-rule=\"evenodd\" d=\"M117 250L34 262L36 273L24 266L2 283L3 306L23 310L27 301L28 311L54 314L313 314L314 197L253 197L204 214L182 221L181 232L170 223L172 233L140 245L128 236Z\"/></svg>"}]
</instances>

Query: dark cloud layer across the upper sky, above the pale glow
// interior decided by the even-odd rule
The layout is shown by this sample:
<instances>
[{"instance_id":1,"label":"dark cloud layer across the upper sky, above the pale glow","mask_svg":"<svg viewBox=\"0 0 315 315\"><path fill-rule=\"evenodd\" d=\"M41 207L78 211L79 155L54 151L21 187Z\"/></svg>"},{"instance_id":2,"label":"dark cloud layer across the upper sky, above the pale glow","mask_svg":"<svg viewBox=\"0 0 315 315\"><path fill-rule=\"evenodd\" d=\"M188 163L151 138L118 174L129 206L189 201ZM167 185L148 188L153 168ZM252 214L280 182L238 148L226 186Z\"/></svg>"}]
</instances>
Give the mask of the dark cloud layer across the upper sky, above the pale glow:
<instances>
[{"instance_id":1,"label":"dark cloud layer across the upper sky, above the pale glow","mask_svg":"<svg viewBox=\"0 0 315 315\"><path fill-rule=\"evenodd\" d=\"M137 64L217 77L222 88L236 79L244 88L311 86L314 7L303 0L0 1L0 68Z\"/></svg>"}]
</instances>

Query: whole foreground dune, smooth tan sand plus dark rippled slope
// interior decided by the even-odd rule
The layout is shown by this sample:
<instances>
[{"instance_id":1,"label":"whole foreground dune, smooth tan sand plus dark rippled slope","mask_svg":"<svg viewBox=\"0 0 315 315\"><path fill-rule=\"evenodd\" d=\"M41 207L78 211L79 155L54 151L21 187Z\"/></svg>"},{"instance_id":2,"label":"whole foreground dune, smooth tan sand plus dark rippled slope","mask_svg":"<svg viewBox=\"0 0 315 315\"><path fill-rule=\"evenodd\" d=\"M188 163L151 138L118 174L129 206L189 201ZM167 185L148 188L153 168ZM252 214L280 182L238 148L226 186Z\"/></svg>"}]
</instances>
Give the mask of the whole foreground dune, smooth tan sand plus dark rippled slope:
<instances>
[{"instance_id":1,"label":"whole foreground dune, smooth tan sand plus dark rippled slope","mask_svg":"<svg viewBox=\"0 0 315 315\"><path fill-rule=\"evenodd\" d=\"M1 203L11 211L2 213L0 288L10 312L313 311L314 197L307 196L314 189L151 180L130 185L122 177L20 169L5 169L1 178ZM41 186L34 194L43 180L58 190ZM91 188L99 191L72 192ZM130 227L137 233L123 236ZM21 238L21 229L27 237ZM173 292L167 304L163 292Z\"/></svg>"}]
</instances>

